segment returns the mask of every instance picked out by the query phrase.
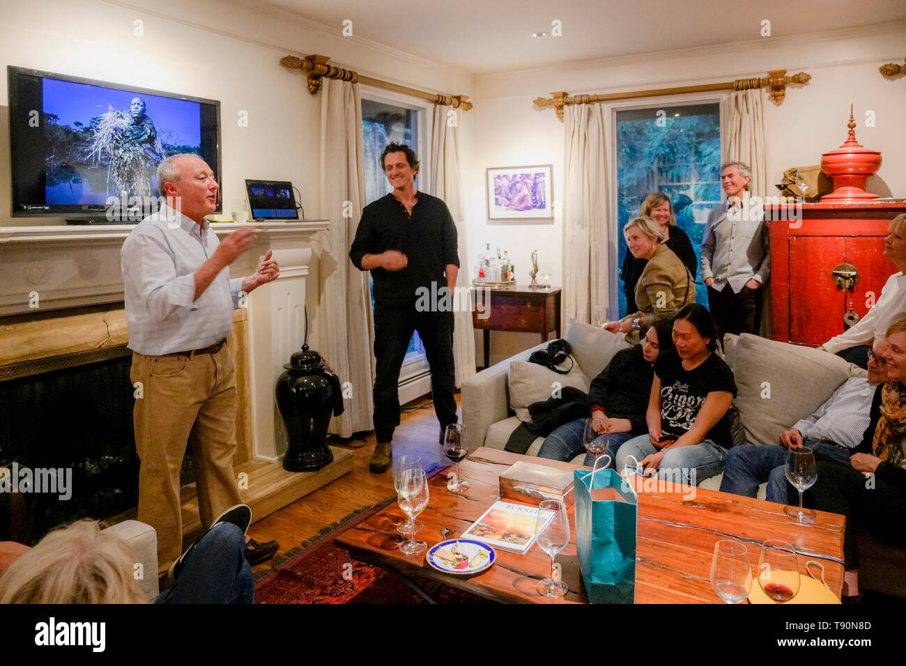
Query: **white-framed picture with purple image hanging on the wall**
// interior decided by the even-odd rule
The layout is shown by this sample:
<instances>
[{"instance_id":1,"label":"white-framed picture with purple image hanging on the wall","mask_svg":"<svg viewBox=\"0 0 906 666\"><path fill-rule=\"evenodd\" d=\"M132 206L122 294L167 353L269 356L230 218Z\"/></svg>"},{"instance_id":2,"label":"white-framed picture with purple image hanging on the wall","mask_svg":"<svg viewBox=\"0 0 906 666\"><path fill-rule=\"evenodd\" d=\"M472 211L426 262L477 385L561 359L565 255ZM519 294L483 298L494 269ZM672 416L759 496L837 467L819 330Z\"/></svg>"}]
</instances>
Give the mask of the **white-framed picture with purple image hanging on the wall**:
<instances>
[{"instance_id":1,"label":"white-framed picture with purple image hanging on the wall","mask_svg":"<svg viewBox=\"0 0 906 666\"><path fill-rule=\"evenodd\" d=\"M552 165L487 169L488 219L554 219Z\"/></svg>"}]
</instances>

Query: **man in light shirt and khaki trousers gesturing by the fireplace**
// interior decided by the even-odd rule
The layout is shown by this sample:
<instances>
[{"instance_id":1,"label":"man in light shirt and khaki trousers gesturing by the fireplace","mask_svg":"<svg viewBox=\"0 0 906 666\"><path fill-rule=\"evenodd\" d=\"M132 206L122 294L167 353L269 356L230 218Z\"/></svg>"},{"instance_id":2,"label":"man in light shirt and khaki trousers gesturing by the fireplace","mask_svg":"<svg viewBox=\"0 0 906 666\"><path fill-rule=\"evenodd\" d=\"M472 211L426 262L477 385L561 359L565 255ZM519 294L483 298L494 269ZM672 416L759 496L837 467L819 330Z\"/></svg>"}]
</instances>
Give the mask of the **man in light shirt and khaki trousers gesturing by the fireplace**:
<instances>
[{"instance_id":1,"label":"man in light shirt and khaki trousers gesturing by the fireplace","mask_svg":"<svg viewBox=\"0 0 906 666\"><path fill-rule=\"evenodd\" d=\"M182 550L179 469L187 442L198 470L202 526L242 503L233 472L236 369L226 336L233 309L280 275L268 251L253 275L230 279L229 265L255 245L255 229L217 240L205 216L217 210L218 187L198 155L164 159L158 188L167 203L132 229L120 251L130 381L140 389L132 414L141 462L139 520L158 533L159 573ZM246 557L255 564L278 547L253 539Z\"/></svg>"}]
</instances>

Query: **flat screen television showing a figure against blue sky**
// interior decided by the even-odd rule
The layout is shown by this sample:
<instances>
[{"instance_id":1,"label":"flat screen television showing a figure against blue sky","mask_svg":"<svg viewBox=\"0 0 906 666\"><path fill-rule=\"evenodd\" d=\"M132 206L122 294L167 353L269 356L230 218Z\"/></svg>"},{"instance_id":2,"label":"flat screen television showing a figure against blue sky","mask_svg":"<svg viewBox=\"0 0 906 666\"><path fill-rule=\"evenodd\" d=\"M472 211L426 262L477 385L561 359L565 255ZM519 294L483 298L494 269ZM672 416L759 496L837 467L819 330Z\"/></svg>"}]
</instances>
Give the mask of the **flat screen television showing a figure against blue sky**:
<instances>
[{"instance_id":1,"label":"flat screen television showing a figure against blue sky","mask_svg":"<svg viewBox=\"0 0 906 666\"><path fill-rule=\"evenodd\" d=\"M13 217L139 222L159 206L160 160L181 152L219 179L219 101L6 70Z\"/></svg>"}]
</instances>

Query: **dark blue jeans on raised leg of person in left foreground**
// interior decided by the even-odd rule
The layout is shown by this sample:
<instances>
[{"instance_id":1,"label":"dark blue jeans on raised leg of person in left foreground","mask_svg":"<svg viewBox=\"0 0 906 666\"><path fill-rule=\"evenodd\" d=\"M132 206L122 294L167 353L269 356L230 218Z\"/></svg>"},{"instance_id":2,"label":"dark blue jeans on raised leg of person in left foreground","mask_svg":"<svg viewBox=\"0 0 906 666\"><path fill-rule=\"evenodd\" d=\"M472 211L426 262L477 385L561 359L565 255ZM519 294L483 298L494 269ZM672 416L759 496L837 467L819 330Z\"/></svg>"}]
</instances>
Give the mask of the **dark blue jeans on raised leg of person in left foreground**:
<instances>
[{"instance_id":1,"label":"dark blue jeans on raised leg of person in left foreground","mask_svg":"<svg viewBox=\"0 0 906 666\"><path fill-rule=\"evenodd\" d=\"M176 584L154 603L255 603L242 530L230 523L211 527L186 558Z\"/></svg>"}]
</instances>

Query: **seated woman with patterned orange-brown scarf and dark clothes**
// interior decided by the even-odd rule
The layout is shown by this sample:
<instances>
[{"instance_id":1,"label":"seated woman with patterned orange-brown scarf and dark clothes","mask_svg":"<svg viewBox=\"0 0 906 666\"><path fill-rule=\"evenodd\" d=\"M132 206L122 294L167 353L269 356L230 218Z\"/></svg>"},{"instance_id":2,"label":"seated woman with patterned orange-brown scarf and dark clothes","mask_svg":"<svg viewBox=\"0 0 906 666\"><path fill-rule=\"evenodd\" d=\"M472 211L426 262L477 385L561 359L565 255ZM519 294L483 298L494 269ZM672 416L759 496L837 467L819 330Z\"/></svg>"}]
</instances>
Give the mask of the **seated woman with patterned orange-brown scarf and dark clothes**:
<instances>
[{"instance_id":1,"label":"seated woman with patterned orange-brown scarf and dark clothes","mask_svg":"<svg viewBox=\"0 0 906 666\"><path fill-rule=\"evenodd\" d=\"M849 465L819 462L807 492L814 508L846 516L843 596L858 599L855 526L892 545L906 546L906 319L887 330L887 381L874 393L872 420ZM844 599L845 600L845 599Z\"/></svg>"}]
</instances>

